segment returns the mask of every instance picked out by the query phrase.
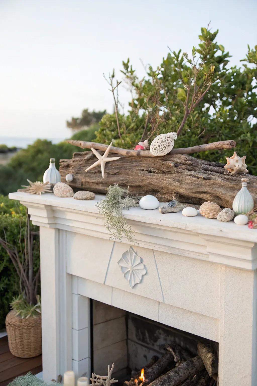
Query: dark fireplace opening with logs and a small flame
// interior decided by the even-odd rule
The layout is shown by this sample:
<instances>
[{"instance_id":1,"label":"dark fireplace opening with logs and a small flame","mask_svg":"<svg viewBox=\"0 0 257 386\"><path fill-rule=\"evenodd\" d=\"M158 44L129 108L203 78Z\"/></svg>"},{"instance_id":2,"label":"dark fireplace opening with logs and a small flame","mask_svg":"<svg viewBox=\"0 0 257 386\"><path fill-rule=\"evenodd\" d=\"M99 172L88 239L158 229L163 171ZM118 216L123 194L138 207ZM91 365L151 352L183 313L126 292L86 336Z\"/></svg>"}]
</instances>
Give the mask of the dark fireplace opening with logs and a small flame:
<instances>
[{"instance_id":1,"label":"dark fireplace opening with logs and a small flame","mask_svg":"<svg viewBox=\"0 0 257 386\"><path fill-rule=\"evenodd\" d=\"M207 348L208 351L205 358L208 363L205 366L198 357L198 342L201 342L203 349ZM196 357L199 359L198 362L195 360ZM203 358L203 355L201 357ZM196 361L191 364L192 366L200 366L194 380L202 382L192 384L214 385L218 373L217 357L217 342L91 300L91 370L95 374L104 375L108 365L114 363L112 378L119 380L118 385L147 385L153 381L152 378L156 374L155 379L178 365L181 369L181 366L186 366L185 362L191 358ZM153 370L155 375L150 374L153 364L158 367L157 361L162 367L157 372ZM144 374L141 372L142 369ZM150 380L146 378L148 375ZM192 379L193 375L186 378L189 382Z\"/></svg>"}]
</instances>

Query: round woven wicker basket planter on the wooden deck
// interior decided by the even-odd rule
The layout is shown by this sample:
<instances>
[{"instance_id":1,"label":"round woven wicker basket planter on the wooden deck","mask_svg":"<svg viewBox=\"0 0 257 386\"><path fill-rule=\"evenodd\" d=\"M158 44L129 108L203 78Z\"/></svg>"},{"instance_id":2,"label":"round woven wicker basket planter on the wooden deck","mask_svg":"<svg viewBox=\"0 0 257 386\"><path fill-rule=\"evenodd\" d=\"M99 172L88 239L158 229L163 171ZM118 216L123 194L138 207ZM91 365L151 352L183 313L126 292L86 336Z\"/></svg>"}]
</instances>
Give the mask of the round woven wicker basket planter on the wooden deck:
<instances>
[{"instance_id":1,"label":"round woven wicker basket planter on the wooden deck","mask_svg":"<svg viewBox=\"0 0 257 386\"><path fill-rule=\"evenodd\" d=\"M10 311L5 319L10 352L15 357L32 358L42 353L41 315L22 319Z\"/></svg>"}]
</instances>

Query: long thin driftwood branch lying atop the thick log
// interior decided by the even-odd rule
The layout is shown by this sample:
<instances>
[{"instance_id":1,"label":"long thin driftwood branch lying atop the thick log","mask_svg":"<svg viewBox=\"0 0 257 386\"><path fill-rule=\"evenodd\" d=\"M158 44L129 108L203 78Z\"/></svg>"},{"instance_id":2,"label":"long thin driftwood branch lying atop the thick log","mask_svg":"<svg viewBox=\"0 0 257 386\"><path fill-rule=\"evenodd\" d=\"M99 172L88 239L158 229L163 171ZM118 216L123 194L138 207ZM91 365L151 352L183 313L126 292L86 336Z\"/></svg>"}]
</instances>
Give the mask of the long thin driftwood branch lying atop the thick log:
<instances>
[{"instance_id":1,"label":"long thin driftwood branch lying atop the thick log","mask_svg":"<svg viewBox=\"0 0 257 386\"><path fill-rule=\"evenodd\" d=\"M87 141L76 141L74 139L67 139L71 145L81 147L82 149L90 149L91 147L96 150L106 151L108 148L107 145L98 144L96 142L87 142ZM181 147L179 149L172 149L169 154L192 154L201 151L207 150L219 150L219 149L233 149L236 146L236 142L233 140L229 141L218 141L212 142L210 144L197 145L192 147ZM121 154L122 156L131 156L131 157L155 157L149 150L131 150L131 149L122 149L121 147L111 146L111 152L116 154Z\"/></svg>"}]
</instances>

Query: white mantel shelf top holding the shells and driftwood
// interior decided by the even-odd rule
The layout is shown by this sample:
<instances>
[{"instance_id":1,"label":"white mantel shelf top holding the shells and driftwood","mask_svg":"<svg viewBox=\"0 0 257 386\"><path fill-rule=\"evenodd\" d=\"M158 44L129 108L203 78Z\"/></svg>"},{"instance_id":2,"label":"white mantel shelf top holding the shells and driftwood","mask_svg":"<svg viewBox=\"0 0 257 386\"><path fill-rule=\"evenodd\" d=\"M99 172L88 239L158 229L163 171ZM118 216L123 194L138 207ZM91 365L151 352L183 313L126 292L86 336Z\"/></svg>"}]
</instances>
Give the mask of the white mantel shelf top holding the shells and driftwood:
<instances>
[{"instance_id":1,"label":"white mantel shelf top holding the shells and driftwood","mask_svg":"<svg viewBox=\"0 0 257 386\"><path fill-rule=\"evenodd\" d=\"M22 201L23 203L33 203L49 205L54 208L64 208L68 210L79 210L81 212L98 213L96 202L104 198L104 195L96 195L94 200L80 201L74 198L60 198L53 193L45 193L41 196L30 195L29 193L15 192L10 193L9 198ZM160 206L162 203L160 203ZM165 203L163 203L165 205ZM195 217L185 217L181 212L162 214L158 209L144 210L139 207L125 210L124 215L132 221L139 221L148 224L158 224L165 227L191 230L205 235L228 237L229 239L257 242L257 230L249 229L247 225L236 225L233 221L223 223L216 219L208 219L199 213Z\"/></svg>"}]
</instances>

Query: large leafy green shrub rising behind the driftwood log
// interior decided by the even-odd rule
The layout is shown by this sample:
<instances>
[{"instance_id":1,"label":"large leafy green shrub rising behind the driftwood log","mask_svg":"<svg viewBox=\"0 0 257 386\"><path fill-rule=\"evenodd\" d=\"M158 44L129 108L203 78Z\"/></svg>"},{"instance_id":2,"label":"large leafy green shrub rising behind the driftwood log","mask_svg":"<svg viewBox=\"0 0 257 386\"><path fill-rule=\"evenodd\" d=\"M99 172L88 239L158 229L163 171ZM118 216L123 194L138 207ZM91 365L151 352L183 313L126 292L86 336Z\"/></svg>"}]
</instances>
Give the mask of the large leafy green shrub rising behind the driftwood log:
<instances>
[{"instance_id":1,"label":"large leafy green shrub rising behind the driftwood log","mask_svg":"<svg viewBox=\"0 0 257 386\"><path fill-rule=\"evenodd\" d=\"M229 52L217 43L217 34L218 30L212 33L202 28L200 44L197 49L192 49L192 59L186 53L182 54L181 50L170 52L158 68L149 66L148 75L143 79L136 76L129 59L123 62L122 76L125 76L133 98L128 115L118 114L121 136L115 114L108 114L100 122L96 142L109 145L113 141L114 146L133 148L142 141L145 127L143 139L148 138L149 144L158 134L177 132L185 113L188 85L192 97L206 79L208 81L211 69L212 86L187 118L175 147L234 139L237 153L241 157L247 156L250 173L257 174L257 46L255 49L248 46L246 59L243 59L246 63L242 67L230 67ZM198 64L195 65L198 56ZM116 85L114 74L110 77L110 83ZM193 155L226 163L225 157L232 156L233 151L208 151Z\"/></svg>"}]
</instances>

